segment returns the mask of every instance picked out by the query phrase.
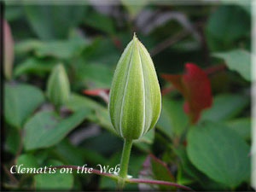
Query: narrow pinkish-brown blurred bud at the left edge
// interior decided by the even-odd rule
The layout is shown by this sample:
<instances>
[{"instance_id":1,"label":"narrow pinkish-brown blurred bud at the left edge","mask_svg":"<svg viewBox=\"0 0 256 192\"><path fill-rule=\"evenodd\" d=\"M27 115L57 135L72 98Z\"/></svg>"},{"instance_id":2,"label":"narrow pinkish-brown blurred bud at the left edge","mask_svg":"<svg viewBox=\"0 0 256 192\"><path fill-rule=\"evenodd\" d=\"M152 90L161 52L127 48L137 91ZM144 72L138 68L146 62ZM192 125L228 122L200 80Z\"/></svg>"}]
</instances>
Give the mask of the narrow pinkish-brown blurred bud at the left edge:
<instances>
[{"instance_id":1,"label":"narrow pinkish-brown blurred bud at the left edge","mask_svg":"<svg viewBox=\"0 0 256 192\"><path fill-rule=\"evenodd\" d=\"M3 73L6 79L11 79L14 64L14 40L6 20L3 20L3 45Z\"/></svg>"}]
</instances>

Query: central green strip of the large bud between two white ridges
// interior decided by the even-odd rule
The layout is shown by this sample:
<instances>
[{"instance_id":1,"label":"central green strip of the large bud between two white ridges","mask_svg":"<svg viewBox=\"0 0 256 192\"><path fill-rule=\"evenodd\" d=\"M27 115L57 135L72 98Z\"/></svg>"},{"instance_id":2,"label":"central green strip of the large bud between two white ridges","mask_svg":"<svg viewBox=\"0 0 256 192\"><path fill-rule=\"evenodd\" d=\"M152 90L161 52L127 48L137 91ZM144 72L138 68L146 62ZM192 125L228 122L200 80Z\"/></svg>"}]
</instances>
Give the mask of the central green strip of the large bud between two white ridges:
<instances>
[{"instance_id":1,"label":"central green strip of the large bud between two white ridges","mask_svg":"<svg viewBox=\"0 0 256 192\"><path fill-rule=\"evenodd\" d=\"M144 127L144 84L143 67L140 61L137 38L133 38L131 64L125 84L122 110L120 116L120 133L122 137L141 137Z\"/></svg>"}]
</instances>

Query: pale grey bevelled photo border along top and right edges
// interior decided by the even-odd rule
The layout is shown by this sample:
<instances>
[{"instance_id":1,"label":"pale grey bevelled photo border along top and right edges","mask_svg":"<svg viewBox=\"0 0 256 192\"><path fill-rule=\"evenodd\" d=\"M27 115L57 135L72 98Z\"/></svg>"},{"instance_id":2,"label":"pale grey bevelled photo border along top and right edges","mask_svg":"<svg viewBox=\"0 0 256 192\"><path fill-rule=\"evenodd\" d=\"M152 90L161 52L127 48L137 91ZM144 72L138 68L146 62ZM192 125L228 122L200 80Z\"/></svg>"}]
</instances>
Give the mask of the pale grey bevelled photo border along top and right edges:
<instances>
[{"instance_id":1,"label":"pale grey bevelled photo border along top and right edges","mask_svg":"<svg viewBox=\"0 0 256 192\"><path fill-rule=\"evenodd\" d=\"M119 5L121 0L0 0L0 3L8 5L22 5L22 4L49 4L49 5L89 5L95 3L98 5ZM251 186L256 190L256 0L126 0L132 4L139 4L147 1L148 4L156 5L218 5L223 4L245 4L250 6L252 10L252 55L251 55L251 74L252 74L252 148L251 153ZM2 11L3 9L1 9ZM3 14L3 13L2 13ZM3 143L2 143L3 144Z\"/></svg>"}]
</instances>

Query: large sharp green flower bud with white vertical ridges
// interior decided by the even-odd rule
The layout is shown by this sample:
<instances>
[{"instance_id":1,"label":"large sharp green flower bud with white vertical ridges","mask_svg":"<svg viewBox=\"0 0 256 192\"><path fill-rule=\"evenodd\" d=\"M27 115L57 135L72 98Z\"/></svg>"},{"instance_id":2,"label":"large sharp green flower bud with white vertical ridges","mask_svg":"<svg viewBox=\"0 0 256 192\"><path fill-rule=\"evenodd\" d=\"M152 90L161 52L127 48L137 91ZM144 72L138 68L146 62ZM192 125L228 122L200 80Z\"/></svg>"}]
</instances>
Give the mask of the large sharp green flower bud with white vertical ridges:
<instances>
[{"instance_id":1,"label":"large sharp green flower bud with white vertical ridges","mask_svg":"<svg viewBox=\"0 0 256 192\"><path fill-rule=\"evenodd\" d=\"M154 127L160 110L154 63L134 34L113 75L108 104L112 125L121 137L138 139Z\"/></svg>"}]
</instances>

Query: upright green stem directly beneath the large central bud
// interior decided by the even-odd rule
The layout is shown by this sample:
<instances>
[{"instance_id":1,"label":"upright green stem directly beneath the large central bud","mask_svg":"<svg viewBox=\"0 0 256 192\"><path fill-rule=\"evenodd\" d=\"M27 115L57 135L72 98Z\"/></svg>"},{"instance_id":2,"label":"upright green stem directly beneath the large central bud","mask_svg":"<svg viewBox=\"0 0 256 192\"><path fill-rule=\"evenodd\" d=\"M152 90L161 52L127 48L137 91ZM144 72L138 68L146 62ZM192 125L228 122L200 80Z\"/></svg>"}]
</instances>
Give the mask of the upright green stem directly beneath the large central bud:
<instances>
[{"instance_id":1,"label":"upright green stem directly beneath the large central bud","mask_svg":"<svg viewBox=\"0 0 256 192\"><path fill-rule=\"evenodd\" d=\"M129 159L131 154L132 140L125 139L122 158L120 162L118 189L123 189L127 177Z\"/></svg>"}]
</instances>

